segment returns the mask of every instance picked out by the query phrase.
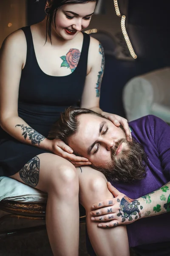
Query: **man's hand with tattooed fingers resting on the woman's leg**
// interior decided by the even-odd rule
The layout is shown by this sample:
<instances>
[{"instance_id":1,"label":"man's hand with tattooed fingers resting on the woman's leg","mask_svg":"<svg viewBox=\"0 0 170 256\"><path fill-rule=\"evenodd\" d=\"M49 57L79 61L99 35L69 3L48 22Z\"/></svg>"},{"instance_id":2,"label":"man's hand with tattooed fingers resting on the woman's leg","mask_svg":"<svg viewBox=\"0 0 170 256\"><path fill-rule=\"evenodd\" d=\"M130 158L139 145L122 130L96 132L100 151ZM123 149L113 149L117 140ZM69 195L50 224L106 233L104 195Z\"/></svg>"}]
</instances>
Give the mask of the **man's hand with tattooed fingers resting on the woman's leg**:
<instances>
[{"instance_id":1,"label":"man's hand with tattooed fingers resting on the woman's leg","mask_svg":"<svg viewBox=\"0 0 170 256\"><path fill-rule=\"evenodd\" d=\"M141 218L140 210L143 207L138 200L128 198L115 189L110 182L108 182L108 189L115 198L99 202L92 206L92 209L96 210L91 212L93 216L91 220L98 222L105 221L105 223L100 222L98 227L116 227L121 224L130 224Z\"/></svg>"}]
</instances>

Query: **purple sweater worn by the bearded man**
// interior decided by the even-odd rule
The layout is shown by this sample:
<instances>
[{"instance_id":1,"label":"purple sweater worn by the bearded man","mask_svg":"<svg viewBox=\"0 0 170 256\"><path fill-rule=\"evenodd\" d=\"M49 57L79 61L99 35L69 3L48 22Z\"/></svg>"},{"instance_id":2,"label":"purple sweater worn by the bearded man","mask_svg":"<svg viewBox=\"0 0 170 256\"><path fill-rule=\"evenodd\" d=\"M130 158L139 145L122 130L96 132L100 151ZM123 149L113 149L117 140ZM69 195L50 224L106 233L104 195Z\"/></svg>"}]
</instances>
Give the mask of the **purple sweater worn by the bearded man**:
<instances>
[{"instance_id":1,"label":"purple sweater worn by the bearded man","mask_svg":"<svg viewBox=\"0 0 170 256\"><path fill-rule=\"evenodd\" d=\"M144 146L148 156L147 176L135 183L112 184L128 197L136 199L170 181L170 126L152 115L129 125L132 137ZM130 247L170 241L170 212L128 224L127 233Z\"/></svg>"}]
</instances>

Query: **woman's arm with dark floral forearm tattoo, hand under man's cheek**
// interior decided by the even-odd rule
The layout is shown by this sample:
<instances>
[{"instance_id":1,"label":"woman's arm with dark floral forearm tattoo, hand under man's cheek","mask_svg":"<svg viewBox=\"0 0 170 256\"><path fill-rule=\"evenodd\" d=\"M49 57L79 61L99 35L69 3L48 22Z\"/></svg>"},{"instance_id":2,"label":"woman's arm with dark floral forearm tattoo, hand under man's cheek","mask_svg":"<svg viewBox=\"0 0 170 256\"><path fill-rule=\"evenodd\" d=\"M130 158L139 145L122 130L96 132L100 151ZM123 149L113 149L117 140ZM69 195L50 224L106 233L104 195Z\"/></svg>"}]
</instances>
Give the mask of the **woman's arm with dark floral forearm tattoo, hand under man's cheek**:
<instances>
[{"instance_id":1,"label":"woman's arm with dark floral forearm tattoo, hand under man's cheek","mask_svg":"<svg viewBox=\"0 0 170 256\"><path fill-rule=\"evenodd\" d=\"M66 159L83 161L61 140L48 140L18 116L18 91L26 63L26 38L22 30L9 35L0 49L0 126L20 142L51 151ZM86 161L87 163L87 161Z\"/></svg>"}]
</instances>

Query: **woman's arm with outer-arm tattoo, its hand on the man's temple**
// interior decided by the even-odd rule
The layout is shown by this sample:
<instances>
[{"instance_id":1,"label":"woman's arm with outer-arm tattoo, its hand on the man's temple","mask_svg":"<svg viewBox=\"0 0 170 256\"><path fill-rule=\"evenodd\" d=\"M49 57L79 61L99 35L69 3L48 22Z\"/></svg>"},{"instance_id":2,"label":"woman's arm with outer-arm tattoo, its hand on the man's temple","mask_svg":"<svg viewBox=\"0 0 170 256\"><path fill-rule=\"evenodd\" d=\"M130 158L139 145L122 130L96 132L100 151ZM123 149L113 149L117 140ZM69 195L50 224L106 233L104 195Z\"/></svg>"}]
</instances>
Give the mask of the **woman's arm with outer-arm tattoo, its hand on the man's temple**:
<instances>
[{"instance_id":1,"label":"woman's arm with outer-arm tattoo, its hand on the man's temple","mask_svg":"<svg viewBox=\"0 0 170 256\"><path fill-rule=\"evenodd\" d=\"M90 67L90 68L89 68ZM127 136L131 136L127 120L121 116L107 113L99 108L100 88L105 69L105 54L102 44L91 37L88 54L88 75L82 95L81 108L89 108L110 119L114 125L122 125Z\"/></svg>"}]
</instances>

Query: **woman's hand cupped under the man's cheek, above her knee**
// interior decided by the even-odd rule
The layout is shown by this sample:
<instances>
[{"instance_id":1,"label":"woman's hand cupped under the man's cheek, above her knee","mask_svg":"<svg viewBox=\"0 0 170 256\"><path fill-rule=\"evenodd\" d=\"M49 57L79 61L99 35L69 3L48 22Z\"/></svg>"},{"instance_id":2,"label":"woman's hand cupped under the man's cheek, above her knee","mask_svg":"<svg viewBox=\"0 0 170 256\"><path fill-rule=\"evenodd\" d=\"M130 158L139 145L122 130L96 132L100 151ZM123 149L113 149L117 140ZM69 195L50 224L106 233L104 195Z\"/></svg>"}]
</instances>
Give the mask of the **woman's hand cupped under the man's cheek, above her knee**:
<instances>
[{"instance_id":1,"label":"woman's hand cupped under the man's cheek, above her knee","mask_svg":"<svg viewBox=\"0 0 170 256\"><path fill-rule=\"evenodd\" d=\"M51 151L54 154L69 160L76 167L91 164L87 158L77 157L73 154L73 149L66 145L62 140L51 140Z\"/></svg>"}]
</instances>

